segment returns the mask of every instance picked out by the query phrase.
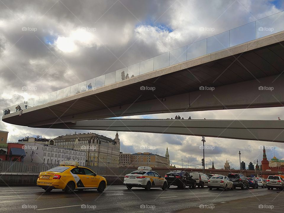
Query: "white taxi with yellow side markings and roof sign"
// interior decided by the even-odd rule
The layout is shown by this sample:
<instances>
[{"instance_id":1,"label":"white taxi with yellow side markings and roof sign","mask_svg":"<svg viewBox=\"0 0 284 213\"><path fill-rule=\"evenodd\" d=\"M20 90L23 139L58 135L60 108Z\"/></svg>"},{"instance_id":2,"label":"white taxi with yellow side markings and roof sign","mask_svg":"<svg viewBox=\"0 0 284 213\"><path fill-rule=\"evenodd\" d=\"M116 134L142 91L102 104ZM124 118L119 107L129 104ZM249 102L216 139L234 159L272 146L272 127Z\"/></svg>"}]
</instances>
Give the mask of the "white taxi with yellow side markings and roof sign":
<instances>
[{"instance_id":1,"label":"white taxi with yellow side markings and roof sign","mask_svg":"<svg viewBox=\"0 0 284 213\"><path fill-rule=\"evenodd\" d=\"M132 187L145 188L149 191L151 188L167 189L167 180L162 178L157 172L152 171L151 167L138 167L137 171L124 176L124 182L128 189Z\"/></svg>"}]
</instances>

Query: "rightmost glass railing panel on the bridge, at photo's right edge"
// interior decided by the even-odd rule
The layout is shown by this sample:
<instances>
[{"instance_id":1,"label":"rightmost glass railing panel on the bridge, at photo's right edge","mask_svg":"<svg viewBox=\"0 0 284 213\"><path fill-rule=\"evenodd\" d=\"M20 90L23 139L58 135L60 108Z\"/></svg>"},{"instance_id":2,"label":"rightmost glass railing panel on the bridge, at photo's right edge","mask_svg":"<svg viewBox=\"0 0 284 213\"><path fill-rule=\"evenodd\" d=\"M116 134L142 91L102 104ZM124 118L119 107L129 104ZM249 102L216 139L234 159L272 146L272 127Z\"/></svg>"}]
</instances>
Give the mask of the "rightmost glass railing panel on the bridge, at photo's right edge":
<instances>
[{"instance_id":1,"label":"rightmost glass railing panel on the bridge, at photo's right edge","mask_svg":"<svg viewBox=\"0 0 284 213\"><path fill-rule=\"evenodd\" d=\"M256 38L261 38L284 30L284 11L256 21Z\"/></svg>"}]
</instances>

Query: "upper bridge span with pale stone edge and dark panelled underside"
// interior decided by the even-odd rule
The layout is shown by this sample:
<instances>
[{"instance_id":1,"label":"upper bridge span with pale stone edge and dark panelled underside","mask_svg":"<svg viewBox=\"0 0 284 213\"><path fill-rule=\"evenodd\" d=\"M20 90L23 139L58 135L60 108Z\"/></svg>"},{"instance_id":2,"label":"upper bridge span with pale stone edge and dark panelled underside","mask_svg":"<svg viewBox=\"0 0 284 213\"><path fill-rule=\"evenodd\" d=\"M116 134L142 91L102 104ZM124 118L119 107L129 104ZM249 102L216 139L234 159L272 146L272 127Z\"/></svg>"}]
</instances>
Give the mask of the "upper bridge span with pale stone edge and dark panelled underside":
<instances>
[{"instance_id":1,"label":"upper bridge span with pale stone edge and dark panelled underside","mask_svg":"<svg viewBox=\"0 0 284 213\"><path fill-rule=\"evenodd\" d=\"M2 120L38 127L128 115L283 106L283 41L284 33L276 33L24 109L21 116L14 112ZM141 86L155 90L140 90ZM201 86L214 90L200 90ZM259 87L273 87L273 90L259 90Z\"/></svg>"}]
</instances>

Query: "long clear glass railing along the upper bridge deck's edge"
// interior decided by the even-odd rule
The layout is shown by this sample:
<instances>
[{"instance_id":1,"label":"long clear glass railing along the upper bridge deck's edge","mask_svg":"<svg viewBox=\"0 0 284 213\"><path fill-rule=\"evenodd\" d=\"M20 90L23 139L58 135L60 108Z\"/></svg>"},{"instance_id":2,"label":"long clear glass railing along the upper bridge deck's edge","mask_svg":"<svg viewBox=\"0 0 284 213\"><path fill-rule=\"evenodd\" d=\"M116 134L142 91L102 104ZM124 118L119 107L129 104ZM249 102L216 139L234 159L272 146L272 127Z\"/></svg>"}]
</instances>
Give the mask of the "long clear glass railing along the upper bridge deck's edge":
<instances>
[{"instance_id":1,"label":"long clear glass railing along the upper bridge deck's edge","mask_svg":"<svg viewBox=\"0 0 284 213\"><path fill-rule=\"evenodd\" d=\"M88 90L93 90L115 82L135 78L147 72L159 70L164 67L201 57L206 54L255 40L257 38L278 33L284 30L283 21L284 11L278 12L246 25L242 25L232 30L205 38L201 41L188 44L128 67L124 67L120 70L116 70L91 80L87 80L34 99L30 99L25 101L25 103L15 104L14 106L4 109L4 115L17 112L19 109L18 105L20 106L20 109L28 109L33 106L46 104L51 101L62 99ZM16 109L16 107L18 109Z\"/></svg>"}]
</instances>

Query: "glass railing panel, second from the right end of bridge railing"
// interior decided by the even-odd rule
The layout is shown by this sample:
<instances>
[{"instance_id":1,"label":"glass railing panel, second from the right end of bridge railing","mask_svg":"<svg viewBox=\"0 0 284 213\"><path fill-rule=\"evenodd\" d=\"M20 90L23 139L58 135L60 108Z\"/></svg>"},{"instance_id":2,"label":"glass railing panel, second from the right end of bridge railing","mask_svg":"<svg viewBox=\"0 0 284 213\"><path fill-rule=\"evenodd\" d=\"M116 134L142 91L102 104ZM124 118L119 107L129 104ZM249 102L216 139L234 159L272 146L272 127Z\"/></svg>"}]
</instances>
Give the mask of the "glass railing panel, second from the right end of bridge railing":
<instances>
[{"instance_id":1,"label":"glass railing panel, second from the right end of bridge railing","mask_svg":"<svg viewBox=\"0 0 284 213\"><path fill-rule=\"evenodd\" d=\"M230 46L252 41L255 39L255 22L230 30Z\"/></svg>"}]
</instances>

